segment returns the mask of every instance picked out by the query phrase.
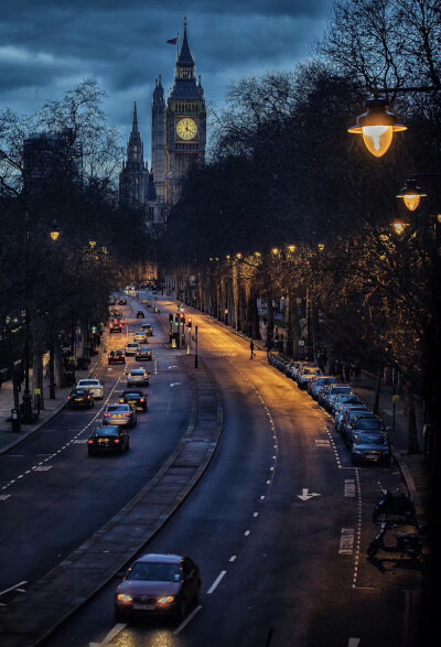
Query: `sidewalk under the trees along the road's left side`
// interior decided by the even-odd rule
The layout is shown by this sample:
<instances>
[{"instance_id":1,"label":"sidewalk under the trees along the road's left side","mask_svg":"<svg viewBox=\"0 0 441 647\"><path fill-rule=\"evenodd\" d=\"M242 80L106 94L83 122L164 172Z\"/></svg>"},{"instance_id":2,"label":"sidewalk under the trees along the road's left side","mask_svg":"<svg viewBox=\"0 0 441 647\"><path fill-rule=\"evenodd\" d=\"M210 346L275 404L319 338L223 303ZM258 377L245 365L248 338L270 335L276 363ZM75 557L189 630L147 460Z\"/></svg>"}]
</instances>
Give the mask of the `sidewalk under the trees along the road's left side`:
<instances>
[{"instance_id":1,"label":"sidewalk under the trees along the road's left side","mask_svg":"<svg viewBox=\"0 0 441 647\"><path fill-rule=\"evenodd\" d=\"M87 370L75 370L76 379L83 379L95 375L101 365L103 356L107 349L107 331L105 331L99 354L90 357L90 365ZM31 370L32 376L32 370ZM22 424L20 432L12 431L12 422L8 421L13 408L12 380L8 380L0 388L0 454L22 442L31 433L40 429L45 422L51 420L66 403L67 396L72 387L55 388L55 400L49 398L49 379L44 380L44 409L40 411L39 420L34 424ZM20 402L22 392L19 393ZM35 411L34 411L35 413Z\"/></svg>"}]
</instances>

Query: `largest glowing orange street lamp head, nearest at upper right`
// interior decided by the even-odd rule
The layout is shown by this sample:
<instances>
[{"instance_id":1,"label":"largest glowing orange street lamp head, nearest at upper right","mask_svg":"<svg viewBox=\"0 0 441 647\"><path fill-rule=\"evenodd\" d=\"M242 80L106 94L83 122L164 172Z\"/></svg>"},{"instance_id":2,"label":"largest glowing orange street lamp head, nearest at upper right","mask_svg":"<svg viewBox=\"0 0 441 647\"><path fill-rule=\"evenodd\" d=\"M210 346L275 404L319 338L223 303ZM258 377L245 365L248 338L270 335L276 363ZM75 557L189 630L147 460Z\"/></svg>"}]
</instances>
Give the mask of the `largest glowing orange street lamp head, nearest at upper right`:
<instances>
[{"instance_id":1,"label":"largest glowing orange street lamp head, nearest at upper right","mask_svg":"<svg viewBox=\"0 0 441 647\"><path fill-rule=\"evenodd\" d=\"M383 158L390 148L394 132L407 130L407 126L396 123L395 115L387 110L386 99L370 98L365 106L366 112L359 115L355 126L347 131L362 134L369 153L376 158Z\"/></svg>"}]
</instances>

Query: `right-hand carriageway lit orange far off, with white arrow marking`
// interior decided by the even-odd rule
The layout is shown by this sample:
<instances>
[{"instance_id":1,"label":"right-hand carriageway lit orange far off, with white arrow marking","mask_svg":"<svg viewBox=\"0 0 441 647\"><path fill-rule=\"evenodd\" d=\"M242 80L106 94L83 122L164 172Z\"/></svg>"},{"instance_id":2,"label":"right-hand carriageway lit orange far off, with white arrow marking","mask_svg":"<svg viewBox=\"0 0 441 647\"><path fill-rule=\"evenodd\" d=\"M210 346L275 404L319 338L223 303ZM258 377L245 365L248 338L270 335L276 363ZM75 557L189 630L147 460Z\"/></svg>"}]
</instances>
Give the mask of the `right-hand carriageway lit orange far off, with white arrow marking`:
<instances>
[{"instance_id":1,"label":"right-hand carriageway lit orange far off, with white arrow marking","mask_svg":"<svg viewBox=\"0 0 441 647\"><path fill-rule=\"evenodd\" d=\"M163 300L164 330L168 311L175 304ZM366 559L377 482L399 486L398 471L352 466L331 417L263 352L250 360L246 339L192 319L222 393L224 431L203 478L143 552L193 557L201 604L179 626L116 625L116 578L47 645L419 645L419 564L396 553Z\"/></svg>"}]
</instances>

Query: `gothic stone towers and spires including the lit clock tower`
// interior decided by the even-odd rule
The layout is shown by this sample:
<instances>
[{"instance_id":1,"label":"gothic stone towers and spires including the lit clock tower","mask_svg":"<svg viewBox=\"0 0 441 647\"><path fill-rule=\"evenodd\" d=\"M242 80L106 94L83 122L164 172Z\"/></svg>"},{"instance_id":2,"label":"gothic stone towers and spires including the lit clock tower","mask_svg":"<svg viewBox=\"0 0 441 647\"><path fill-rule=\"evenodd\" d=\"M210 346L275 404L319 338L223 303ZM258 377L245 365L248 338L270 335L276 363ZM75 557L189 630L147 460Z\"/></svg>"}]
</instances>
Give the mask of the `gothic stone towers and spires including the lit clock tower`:
<instances>
[{"instance_id":1,"label":"gothic stone towers and spires including the lit clock tower","mask_svg":"<svg viewBox=\"0 0 441 647\"><path fill-rule=\"evenodd\" d=\"M135 103L127 160L119 175L121 204L143 208L148 225L165 225L170 208L181 195L182 182L193 164L205 160L206 110L201 77L190 50L186 21L176 56L174 85L164 98L161 76L155 82L151 114L151 170Z\"/></svg>"}]
</instances>

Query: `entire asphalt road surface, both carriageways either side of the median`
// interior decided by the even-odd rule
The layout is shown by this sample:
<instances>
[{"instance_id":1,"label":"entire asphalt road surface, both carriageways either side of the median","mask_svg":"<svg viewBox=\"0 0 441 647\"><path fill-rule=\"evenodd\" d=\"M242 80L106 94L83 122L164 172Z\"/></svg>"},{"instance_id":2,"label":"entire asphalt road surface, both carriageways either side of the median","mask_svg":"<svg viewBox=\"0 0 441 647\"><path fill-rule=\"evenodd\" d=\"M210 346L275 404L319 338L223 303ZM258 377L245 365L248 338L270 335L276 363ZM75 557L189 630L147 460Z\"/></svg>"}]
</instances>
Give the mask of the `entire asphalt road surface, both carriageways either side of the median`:
<instances>
[{"instance_id":1,"label":"entire asphalt road surface, both carriageways either side of the median","mask_svg":"<svg viewBox=\"0 0 441 647\"><path fill-rule=\"evenodd\" d=\"M169 330L168 312L174 314L175 304L163 299L161 314L154 317L155 343ZM192 319L193 333L198 325L200 356L222 395L224 431L208 470L143 552L176 552L195 559L203 581L200 606L180 625L154 618L116 624L114 593L119 580L115 578L46 645L417 646L419 564L397 553L366 559L376 531L370 517L378 498L377 482L399 486L398 472L354 467L330 416L270 367L263 352L256 349L257 357L250 360L246 339L209 317L192 313ZM20 500L11 497L17 505L11 510L19 524L25 506L29 519L19 525L15 553L12 539L7 541L8 561L15 554L19 565L8 565L8 578L2 575L6 584L44 572L56 556L115 514L170 453L183 434L190 407L185 376L176 373L173 381L170 378L171 370L180 370L178 355L157 347L151 410L144 427L141 422L132 432L133 449L128 454L90 463L85 446L74 443L56 455L53 470L33 474L29 485L24 477L17 485ZM111 377L107 371L106 396L121 373L119 367ZM25 460L4 456L1 467L10 461L8 475L17 479L20 470L29 468L26 461L35 461L36 452L53 452L63 433L74 438L95 412L63 412L51 424L54 431L37 432L20 445ZM76 421L72 427L71 420ZM86 438L83 433L80 438ZM44 485L36 476L46 478ZM45 522L39 521L40 515L49 516ZM9 522L3 538L14 527L13 519ZM55 525L54 537L50 522ZM64 530L65 525L69 530ZM32 540L26 539L26 526ZM42 542L44 528L47 547ZM33 550L34 541L37 550Z\"/></svg>"}]
</instances>

